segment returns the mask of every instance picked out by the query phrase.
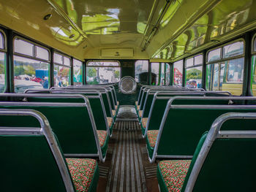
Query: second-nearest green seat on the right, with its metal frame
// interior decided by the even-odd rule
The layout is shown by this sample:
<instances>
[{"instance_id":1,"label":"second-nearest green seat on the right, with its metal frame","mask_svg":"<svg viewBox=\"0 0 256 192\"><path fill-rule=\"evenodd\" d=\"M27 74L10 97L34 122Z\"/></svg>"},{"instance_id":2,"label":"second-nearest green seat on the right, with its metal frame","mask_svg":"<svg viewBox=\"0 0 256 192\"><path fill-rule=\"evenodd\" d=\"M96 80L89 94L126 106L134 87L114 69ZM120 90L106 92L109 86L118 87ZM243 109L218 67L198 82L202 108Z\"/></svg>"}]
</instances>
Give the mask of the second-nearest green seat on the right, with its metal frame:
<instances>
[{"instance_id":1,"label":"second-nearest green seat on the right, with its metal frame","mask_svg":"<svg viewBox=\"0 0 256 192\"><path fill-rule=\"evenodd\" d=\"M156 158L192 158L197 141L211 123L226 112L255 112L256 106L229 105L230 99L244 97L173 97L167 103L165 115L159 128L155 147L151 147L146 137L148 155L151 162ZM247 98L248 99L248 98ZM255 99L255 98L251 98ZM172 104L178 100L179 104ZM190 105L181 104L190 100ZM195 101L196 105L192 105ZM217 102L219 104L217 105ZM201 104L200 104L201 102ZM207 104L208 102L208 104ZM224 104L226 103L226 104ZM211 106L210 106L211 105ZM234 123L233 128L240 128Z\"/></svg>"}]
</instances>

